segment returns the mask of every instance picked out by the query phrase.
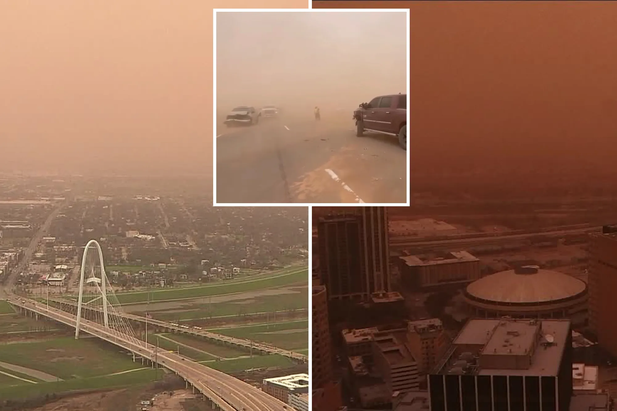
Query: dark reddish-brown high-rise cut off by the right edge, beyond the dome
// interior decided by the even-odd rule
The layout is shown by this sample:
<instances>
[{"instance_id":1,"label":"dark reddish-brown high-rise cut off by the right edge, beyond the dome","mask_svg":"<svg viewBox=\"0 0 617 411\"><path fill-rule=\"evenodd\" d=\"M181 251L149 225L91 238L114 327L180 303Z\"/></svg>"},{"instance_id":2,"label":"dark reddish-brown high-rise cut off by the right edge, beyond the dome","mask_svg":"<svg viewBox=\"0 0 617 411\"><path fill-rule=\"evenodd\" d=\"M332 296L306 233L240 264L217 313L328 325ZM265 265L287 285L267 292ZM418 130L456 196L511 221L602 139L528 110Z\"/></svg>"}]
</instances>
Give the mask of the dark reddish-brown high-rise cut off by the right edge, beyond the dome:
<instances>
[{"instance_id":1,"label":"dark reddish-brown high-rise cut off by the right edge, beyond the dome","mask_svg":"<svg viewBox=\"0 0 617 411\"><path fill-rule=\"evenodd\" d=\"M598 344L617 355L615 293L617 289L617 225L602 227L589 242L589 326Z\"/></svg>"}]
</instances>

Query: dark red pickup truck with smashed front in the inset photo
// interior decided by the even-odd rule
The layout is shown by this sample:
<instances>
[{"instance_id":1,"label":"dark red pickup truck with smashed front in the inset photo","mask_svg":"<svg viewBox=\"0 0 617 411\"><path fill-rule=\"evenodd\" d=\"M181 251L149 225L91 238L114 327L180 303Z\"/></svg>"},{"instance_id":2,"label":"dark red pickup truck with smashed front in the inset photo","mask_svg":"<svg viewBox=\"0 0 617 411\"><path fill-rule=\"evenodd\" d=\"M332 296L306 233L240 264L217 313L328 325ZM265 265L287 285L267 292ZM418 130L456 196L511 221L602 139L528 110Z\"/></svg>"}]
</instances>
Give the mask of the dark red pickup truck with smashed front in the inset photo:
<instances>
[{"instance_id":1,"label":"dark red pickup truck with smashed front in the inset photo","mask_svg":"<svg viewBox=\"0 0 617 411\"><path fill-rule=\"evenodd\" d=\"M400 147L407 149L407 94L389 94L362 103L354 111L354 120L358 137L365 131L395 136Z\"/></svg>"}]
</instances>

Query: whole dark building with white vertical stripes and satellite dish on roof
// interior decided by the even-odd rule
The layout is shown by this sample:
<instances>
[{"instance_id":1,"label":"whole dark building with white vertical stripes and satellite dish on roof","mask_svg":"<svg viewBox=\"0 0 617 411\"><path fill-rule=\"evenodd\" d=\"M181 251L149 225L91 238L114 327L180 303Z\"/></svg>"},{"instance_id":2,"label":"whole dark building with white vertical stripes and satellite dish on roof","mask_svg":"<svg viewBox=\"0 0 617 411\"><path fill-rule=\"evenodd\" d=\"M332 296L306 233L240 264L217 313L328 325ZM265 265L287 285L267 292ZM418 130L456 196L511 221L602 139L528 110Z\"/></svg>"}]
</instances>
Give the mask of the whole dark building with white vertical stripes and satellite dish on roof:
<instances>
[{"instance_id":1,"label":"whole dark building with white vertical stripes and satellite dish on roof","mask_svg":"<svg viewBox=\"0 0 617 411\"><path fill-rule=\"evenodd\" d=\"M569 320L472 319L429 375L431 411L568 411Z\"/></svg>"}]
</instances>

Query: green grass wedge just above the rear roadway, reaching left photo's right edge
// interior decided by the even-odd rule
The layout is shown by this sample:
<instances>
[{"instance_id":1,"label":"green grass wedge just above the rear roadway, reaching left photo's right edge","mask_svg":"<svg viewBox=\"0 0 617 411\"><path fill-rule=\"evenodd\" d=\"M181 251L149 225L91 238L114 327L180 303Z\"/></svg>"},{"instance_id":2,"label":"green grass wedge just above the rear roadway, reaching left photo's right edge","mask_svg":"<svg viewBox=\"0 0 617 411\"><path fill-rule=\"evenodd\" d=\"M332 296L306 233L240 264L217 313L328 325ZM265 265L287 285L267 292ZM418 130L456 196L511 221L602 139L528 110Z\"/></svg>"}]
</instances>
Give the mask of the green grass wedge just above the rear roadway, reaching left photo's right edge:
<instances>
[{"instance_id":1,"label":"green grass wedge just above the rear roadway, reaching left photo's right edge","mask_svg":"<svg viewBox=\"0 0 617 411\"><path fill-rule=\"evenodd\" d=\"M297 331L289 332L285 331ZM300 331L302 330L302 331ZM262 341L288 350L306 349L309 347L309 321L299 320L284 323L270 323L233 328L217 328L209 330L213 333L236 338L247 338ZM283 332L281 332L283 331Z\"/></svg>"}]
</instances>

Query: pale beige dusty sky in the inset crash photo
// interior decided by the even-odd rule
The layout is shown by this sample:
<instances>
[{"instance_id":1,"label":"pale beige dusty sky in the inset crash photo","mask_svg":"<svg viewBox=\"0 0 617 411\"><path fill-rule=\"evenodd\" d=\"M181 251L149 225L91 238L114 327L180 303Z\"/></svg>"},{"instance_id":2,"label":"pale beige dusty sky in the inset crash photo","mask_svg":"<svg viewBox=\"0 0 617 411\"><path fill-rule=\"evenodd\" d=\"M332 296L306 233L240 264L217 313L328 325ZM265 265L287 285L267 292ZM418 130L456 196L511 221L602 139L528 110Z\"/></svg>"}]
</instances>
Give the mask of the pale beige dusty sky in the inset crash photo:
<instances>
[{"instance_id":1,"label":"pale beige dusty sky in the inset crash photo","mask_svg":"<svg viewBox=\"0 0 617 411\"><path fill-rule=\"evenodd\" d=\"M234 106L287 115L341 110L407 89L405 12L217 13L217 117Z\"/></svg>"}]
</instances>

